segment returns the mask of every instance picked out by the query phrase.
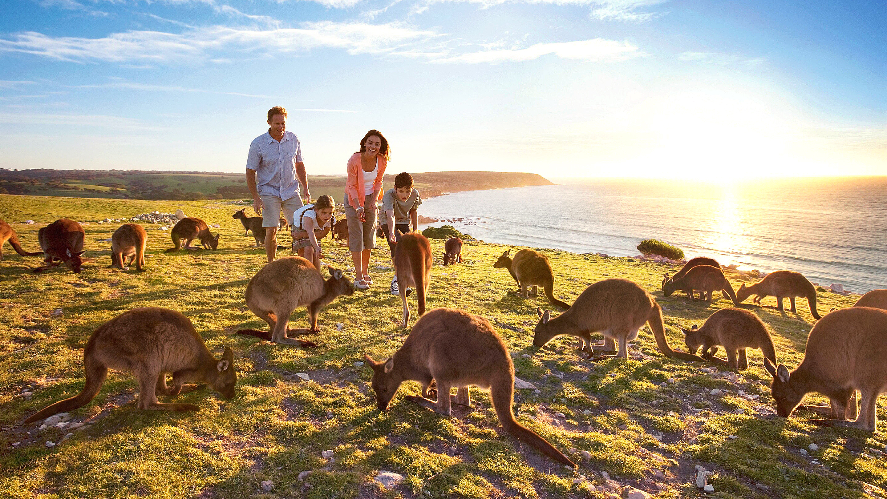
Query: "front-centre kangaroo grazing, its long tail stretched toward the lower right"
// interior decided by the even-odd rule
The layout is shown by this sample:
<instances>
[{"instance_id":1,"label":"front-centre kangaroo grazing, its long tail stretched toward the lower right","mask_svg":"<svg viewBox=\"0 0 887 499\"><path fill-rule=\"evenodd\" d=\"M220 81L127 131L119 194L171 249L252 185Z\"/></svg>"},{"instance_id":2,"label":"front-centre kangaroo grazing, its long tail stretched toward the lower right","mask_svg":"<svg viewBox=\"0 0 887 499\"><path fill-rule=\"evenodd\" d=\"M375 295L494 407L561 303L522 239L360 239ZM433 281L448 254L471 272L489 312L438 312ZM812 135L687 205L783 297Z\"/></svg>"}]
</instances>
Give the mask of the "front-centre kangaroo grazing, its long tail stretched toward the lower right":
<instances>
[{"instance_id":1,"label":"front-centre kangaroo grazing, its long tail stretched toward the lower right","mask_svg":"<svg viewBox=\"0 0 887 499\"><path fill-rule=\"evenodd\" d=\"M379 410L389 409L404 381L418 381L422 396L406 399L451 417L451 398L457 404L470 405L468 388L478 386L490 390L499 424L507 433L561 464L576 467L552 444L514 419L514 364L505 342L485 318L462 310L435 308L416 322L404 346L393 356L378 363L369 355L364 359L373 368ZM437 384L437 402L427 398L432 380ZM450 394L453 386L457 387L454 397Z\"/></svg>"}]
</instances>

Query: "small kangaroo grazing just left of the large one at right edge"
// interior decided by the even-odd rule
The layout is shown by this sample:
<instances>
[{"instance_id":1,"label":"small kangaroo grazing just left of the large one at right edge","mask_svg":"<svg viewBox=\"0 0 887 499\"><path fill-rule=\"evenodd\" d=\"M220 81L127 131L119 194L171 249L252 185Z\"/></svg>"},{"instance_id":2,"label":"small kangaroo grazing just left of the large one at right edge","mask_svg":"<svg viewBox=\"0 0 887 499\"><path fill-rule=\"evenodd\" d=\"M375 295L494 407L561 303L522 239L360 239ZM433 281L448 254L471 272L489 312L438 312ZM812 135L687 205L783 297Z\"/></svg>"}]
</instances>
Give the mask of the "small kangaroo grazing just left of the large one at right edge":
<instances>
[{"instance_id":1,"label":"small kangaroo grazing just left of the large one at right edge","mask_svg":"<svg viewBox=\"0 0 887 499\"><path fill-rule=\"evenodd\" d=\"M684 328L680 331L684 331L687 351L691 354L701 346L704 357L720 361L714 355L718 347L724 347L726 365L733 370L749 369L746 348L760 348L766 358L776 362L776 348L766 326L755 314L742 308L721 308L705 320L703 327L694 324L689 331Z\"/></svg>"}]
</instances>

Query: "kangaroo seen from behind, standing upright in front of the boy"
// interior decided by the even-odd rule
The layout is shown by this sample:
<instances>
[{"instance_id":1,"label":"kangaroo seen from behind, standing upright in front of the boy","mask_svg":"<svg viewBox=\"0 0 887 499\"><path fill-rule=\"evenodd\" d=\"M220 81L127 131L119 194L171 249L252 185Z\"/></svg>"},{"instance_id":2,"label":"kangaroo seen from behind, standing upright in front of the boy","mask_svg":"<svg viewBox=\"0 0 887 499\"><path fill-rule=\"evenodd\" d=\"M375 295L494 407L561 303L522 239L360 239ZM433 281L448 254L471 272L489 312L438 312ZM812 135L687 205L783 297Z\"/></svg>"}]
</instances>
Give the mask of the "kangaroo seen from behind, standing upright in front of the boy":
<instances>
[{"instance_id":1,"label":"kangaroo seen from behind, standing upright in front of the boy","mask_svg":"<svg viewBox=\"0 0 887 499\"><path fill-rule=\"evenodd\" d=\"M431 244L428 238L417 232L404 234L394 249L394 272L400 290L400 300L404 304L404 322L402 327L410 324L410 307L406 304L406 290L416 288L416 300L419 301L419 315L425 313L425 297L428 285L431 284Z\"/></svg>"}]
</instances>

